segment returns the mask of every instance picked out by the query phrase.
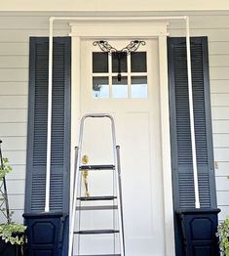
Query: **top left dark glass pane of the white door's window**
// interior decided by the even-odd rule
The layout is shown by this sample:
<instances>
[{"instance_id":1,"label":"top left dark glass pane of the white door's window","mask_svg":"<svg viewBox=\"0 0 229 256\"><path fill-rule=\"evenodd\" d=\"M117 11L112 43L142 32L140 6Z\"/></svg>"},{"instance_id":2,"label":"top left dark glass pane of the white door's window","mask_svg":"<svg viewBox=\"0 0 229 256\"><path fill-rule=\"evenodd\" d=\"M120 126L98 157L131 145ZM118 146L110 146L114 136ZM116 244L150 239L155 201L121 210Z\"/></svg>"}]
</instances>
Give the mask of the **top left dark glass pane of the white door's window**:
<instances>
[{"instance_id":1,"label":"top left dark glass pane of the white door's window","mask_svg":"<svg viewBox=\"0 0 229 256\"><path fill-rule=\"evenodd\" d=\"M108 53L93 53L93 72L108 72Z\"/></svg>"}]
</instances>

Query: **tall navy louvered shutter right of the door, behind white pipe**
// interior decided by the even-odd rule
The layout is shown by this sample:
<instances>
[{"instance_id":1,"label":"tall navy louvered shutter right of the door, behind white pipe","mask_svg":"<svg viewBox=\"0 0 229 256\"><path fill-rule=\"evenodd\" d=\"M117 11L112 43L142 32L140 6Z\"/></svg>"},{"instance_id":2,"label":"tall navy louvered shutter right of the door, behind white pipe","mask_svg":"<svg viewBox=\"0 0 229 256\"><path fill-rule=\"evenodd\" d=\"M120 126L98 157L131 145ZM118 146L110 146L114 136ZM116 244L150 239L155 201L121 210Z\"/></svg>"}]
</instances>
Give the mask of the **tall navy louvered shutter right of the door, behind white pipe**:
<instances>
[{"instance_id":1,"label":"tall navy louvered shutter right of the door, behind white pipe","mask_svg":"<svg viewBox=\"0 0 229 256\"><path fill-rule=\"evenodd\" d=\"M168 43L174 209L195 208L186 41L169 38ZM216 199L206 37L191 38L191 64L200 202L208 208L216 206Z\"/></svg>"}]
</instances>

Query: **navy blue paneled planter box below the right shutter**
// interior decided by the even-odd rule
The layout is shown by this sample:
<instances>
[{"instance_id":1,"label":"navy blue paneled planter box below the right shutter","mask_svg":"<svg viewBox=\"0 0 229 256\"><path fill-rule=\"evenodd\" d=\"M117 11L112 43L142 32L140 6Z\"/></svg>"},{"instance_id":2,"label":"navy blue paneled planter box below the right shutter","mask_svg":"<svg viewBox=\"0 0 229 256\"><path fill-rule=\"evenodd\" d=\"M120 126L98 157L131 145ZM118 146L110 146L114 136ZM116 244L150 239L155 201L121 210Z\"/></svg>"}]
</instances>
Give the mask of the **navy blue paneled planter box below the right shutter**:
<instances>
[{"instance_id":1,"label":"navy blue paneled planter box below the right shutter","mask_svg":"<svg viewBox=\"0 0 229 256\"><path fill-rule=\"evenodd\" d=\"M219 209L178 210L186 256L218 256L217 232Z\"/></svg>"}]
</instances>

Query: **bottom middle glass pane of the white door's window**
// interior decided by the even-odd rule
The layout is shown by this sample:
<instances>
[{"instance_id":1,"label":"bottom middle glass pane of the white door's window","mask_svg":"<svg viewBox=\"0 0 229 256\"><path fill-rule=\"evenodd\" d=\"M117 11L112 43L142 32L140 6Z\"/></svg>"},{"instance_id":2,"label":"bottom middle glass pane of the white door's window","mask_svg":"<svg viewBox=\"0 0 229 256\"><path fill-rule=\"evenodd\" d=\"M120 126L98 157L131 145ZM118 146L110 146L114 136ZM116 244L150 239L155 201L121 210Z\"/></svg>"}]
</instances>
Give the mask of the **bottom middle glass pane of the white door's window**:
<instances>
[{"instance_id":1,"label":"bottom middle glass pane of the white door's window","mask_svg":"<svg viewBox=\"0 0 229 256\"><path fill-rule=\"evenodd\" d=\"M122 76L118 81L117 76L112 77L112 96L113 98L128 98L128 78Z\"/></svg>"}]
</instances>

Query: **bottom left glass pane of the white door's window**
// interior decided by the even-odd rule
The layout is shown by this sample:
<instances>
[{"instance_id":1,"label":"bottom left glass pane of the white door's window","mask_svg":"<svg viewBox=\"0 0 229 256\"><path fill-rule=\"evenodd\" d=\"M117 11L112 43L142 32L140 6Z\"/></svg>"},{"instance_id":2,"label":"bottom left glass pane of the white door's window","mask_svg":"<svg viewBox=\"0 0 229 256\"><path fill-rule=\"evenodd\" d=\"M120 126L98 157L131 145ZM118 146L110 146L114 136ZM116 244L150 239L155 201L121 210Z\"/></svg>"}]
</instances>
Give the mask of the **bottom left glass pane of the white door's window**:
<instances>
[{"instance_id":1,"label":"bottom left glass pane of the white door's window","mask_svg":"<svg viewBox=\"0 0 229 256\"><path fill-rule=\"evenodd\" d=\"M109 98L108 77L93 77L93 95L94 98Z\"/></svg>"}]
</instances>

